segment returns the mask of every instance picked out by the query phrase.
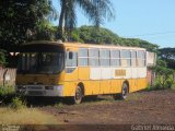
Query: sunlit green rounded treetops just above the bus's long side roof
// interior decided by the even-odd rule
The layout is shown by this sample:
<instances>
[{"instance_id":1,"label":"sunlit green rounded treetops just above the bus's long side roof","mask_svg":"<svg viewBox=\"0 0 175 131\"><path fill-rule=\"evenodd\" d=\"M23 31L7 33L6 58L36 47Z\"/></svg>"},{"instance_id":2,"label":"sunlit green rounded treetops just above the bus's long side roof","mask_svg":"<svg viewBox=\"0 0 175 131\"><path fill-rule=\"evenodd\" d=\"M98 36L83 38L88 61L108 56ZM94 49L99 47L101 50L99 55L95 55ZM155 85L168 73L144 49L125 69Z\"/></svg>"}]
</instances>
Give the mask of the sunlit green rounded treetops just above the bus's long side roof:
<instances>
[{"instance_id":1,"label":"sunlit green rounded treetops just above the bus's long side roof","mask_svg":"<svg viewBox=\"0 0 175 131\"><path fill-rule=\"evenodd\" d=\"M122 38L106 28L93 26L81 26L72 32L69 40L84 41L88 44L106 44L147 48L149 51L156 51L159 46L138 38Z\"/></svg>"}]
</instances>

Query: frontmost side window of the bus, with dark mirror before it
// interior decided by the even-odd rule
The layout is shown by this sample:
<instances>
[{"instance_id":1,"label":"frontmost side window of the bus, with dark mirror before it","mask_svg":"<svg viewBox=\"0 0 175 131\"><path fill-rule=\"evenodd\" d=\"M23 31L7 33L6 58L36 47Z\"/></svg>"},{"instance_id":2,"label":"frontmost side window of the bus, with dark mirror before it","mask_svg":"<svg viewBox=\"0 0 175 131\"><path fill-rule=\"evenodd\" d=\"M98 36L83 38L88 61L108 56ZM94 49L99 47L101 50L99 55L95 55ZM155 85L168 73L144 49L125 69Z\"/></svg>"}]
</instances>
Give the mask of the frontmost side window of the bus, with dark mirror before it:
<instances>
[{"instance_id":1,"label":"frontmost side window of the bus, with dark mirror before it","mask_svg":"<svg viewBox=\"0 0 175 131\"><path fill-rule=\"evenodd\" d=\"M71 73L75 70L78 66L78 53L73 51L68 51L66 56L66 72Z\"/></svg>"}]
</instances>

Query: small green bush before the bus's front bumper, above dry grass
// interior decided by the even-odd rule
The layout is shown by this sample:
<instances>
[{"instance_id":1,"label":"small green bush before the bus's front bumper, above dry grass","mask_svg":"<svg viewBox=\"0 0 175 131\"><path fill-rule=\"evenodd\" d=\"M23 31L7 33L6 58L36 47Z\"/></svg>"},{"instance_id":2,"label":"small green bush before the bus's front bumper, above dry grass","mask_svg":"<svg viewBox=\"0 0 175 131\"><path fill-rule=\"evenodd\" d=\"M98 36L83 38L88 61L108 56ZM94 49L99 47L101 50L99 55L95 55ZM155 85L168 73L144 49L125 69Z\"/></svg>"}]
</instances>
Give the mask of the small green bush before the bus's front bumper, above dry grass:
<instances>
[{"instance_id":1,"label":"small green bush before the bus's front bumper, above dry grass","mask_svg":"<svg viewBox=\"0 0 175 131\"><path fill-rule=\"evenodd\" d=\"M20 97L14 97L12 99L12 104L10 105L12 109L19 110L26 107L25 102L23 102Z\"/></svg>"}]
</instances>

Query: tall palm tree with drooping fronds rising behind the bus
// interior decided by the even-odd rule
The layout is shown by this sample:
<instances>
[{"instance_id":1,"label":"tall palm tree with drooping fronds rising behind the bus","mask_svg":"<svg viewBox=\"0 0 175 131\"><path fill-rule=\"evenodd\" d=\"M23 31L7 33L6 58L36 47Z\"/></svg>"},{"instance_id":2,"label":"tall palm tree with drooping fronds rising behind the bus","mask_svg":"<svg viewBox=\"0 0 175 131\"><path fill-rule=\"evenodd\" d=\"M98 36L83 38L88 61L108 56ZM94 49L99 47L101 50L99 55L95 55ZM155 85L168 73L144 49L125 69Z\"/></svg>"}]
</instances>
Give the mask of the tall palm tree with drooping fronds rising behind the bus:
<instances>
[{"instance_id":1,"label":"tall palm tree with drooping fronds rising behind the bus","mask_svg":"<svg viewBox=\"0 0 175 131\"><path fill-rule=\"evenodd\" d=\"M77 24L77 5L94 25L100 26L104 19L114 17L114 9L109 0L59 0L61 12L59 17L60 37L70 33ZM70 34L69 34L70 35Z\"/></svg>"}]
</instances>

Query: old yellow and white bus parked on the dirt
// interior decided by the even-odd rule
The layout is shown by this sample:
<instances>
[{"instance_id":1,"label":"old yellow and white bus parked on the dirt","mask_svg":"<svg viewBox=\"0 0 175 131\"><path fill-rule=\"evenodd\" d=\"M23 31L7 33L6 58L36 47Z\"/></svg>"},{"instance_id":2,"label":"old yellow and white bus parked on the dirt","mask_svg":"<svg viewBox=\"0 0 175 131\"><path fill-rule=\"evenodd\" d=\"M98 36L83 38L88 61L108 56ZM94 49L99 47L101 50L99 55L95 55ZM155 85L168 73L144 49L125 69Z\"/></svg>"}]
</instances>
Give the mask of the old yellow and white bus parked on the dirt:
<instances>
[{"instance_id":1,"label":"old yellow and white bus parked on the dirt","mask_svg":"<svg viewBox=\"0 0 175 131\"><path fill-rule=\"evenodd\" d=\"M125 99L147 87L148 51L139 47L38 40L19 55L16 93L69 97L113 95Z\"/></svg>"}]
</instances>

